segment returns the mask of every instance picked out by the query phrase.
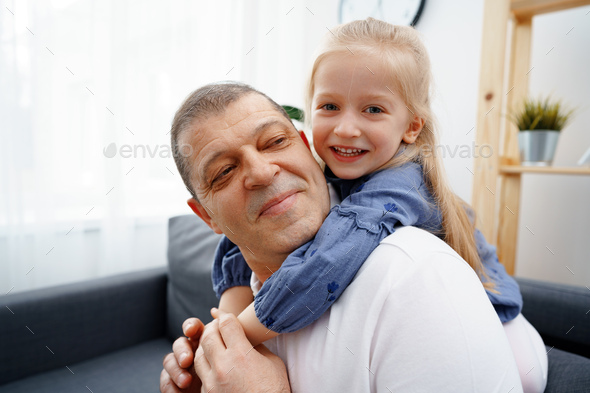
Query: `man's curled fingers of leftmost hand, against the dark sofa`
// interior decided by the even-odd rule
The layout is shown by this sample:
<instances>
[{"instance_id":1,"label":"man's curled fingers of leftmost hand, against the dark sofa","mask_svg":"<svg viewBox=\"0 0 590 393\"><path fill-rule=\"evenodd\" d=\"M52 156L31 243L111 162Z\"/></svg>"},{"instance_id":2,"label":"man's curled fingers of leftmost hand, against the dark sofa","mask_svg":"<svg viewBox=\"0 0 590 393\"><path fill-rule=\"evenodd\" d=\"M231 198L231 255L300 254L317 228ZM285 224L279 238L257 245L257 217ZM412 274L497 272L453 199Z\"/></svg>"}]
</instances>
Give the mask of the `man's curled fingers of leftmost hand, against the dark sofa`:
<instances>
[{"instance_id":1,"label":"man's curled fingers of leftmost hand, against the dark sofa","mask_svg":"<svg viewBox=\"0 0 590 393\"><path fill-rule=\"evenodd\" d=\"M201 381L194 372L194 353L204 330L198 318L189 318L182 324L186 337L180 337L172 344L173 353L164 357L164 369L160 373L160 392L200 392Z\"/></svg>"}]
</instances>

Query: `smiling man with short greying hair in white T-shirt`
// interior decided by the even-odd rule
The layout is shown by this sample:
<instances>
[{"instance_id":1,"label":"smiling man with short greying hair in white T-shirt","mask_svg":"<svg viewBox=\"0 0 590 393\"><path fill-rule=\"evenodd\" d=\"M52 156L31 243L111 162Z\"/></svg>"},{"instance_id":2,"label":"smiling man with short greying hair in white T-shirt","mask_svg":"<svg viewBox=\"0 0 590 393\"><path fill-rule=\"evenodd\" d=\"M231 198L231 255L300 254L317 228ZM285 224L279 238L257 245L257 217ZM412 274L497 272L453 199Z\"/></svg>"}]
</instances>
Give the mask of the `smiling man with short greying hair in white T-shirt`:
<instances>
[{"instance_id":1,"label":"smiling man with short greying hair in white T-shirt","mask_svg":"<svg viewBox=\"0 0 590 393\"><path fill-rule=\"evenodd\" d=\"M193 211L224 233L264 282L309 241L329 210L322 172L280 106L241 84L194 92L178 110L172 145ZM239 289L239 290L243 290ZM164 359L160 387L189 376L196 319ZM190 339L189 339L190 338ZM253 349L237 319L204 328L195 368L209 391L521 391L511 349L473 270L448 245L401 228L367 259L315 323Z\"/></svg>"}]
</instances>

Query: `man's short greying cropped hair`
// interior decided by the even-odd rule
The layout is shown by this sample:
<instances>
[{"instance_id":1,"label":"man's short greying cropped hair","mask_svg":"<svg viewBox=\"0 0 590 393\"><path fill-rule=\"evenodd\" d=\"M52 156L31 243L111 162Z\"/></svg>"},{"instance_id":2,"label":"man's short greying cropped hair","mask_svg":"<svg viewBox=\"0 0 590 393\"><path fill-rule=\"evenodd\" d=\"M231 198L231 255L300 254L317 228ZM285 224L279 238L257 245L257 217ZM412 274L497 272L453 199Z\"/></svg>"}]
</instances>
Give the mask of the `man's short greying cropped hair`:
<instances>
[{"instance_id":1,"label":"man's short greying cropped hair","mask_svg":"<svg viewBox=\"0 0 590 393\"><path fill-rule=\"evenodd\" d=\"M196 200L198 200L197 194L191 183L191 160L182 152L181 136L185 134L185 131L191 129L191 126L195 125L196 120L205 121L211 116L223 114L229 104L248 94L263 96L279 113L291 121L282 106L266 94L240 82L221 82L205 85L192 92L174 115L172 128L170 129L172 155L186 189Z\"/></svg>"}]
</instances>

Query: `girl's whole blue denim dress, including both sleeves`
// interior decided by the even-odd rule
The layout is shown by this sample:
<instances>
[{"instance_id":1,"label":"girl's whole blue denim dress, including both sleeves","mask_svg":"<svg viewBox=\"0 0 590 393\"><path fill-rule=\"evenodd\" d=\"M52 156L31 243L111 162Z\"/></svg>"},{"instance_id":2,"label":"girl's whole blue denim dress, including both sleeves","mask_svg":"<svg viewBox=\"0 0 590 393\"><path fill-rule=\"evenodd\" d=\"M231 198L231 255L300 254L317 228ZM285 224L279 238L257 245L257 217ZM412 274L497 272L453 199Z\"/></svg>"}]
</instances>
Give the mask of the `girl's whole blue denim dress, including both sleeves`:
<instances>
[{"instance_id":1,"label":"girl's whole blue denim dress, including both sleeves","mask_svg":"<svg viewBox=\"0 0 590 393\"><path fill-rule=\"evenodd\" d=\"M291 253L254 298L256 316L266 327L288 333L317 320L338 299L362 264L397 227L415 226L442 237L440 210L424 183L422 167L407 163L359 179L342 180L327 172L342 203L334 206L315 238ZM486 291L500 320L522 309L516 281L499 263L496 248L479 230L475 240L486 273L499 293ZM225 236L213 264L218 297L233 286L250 285L252 271Z\"/></svg>"}]
</instances>

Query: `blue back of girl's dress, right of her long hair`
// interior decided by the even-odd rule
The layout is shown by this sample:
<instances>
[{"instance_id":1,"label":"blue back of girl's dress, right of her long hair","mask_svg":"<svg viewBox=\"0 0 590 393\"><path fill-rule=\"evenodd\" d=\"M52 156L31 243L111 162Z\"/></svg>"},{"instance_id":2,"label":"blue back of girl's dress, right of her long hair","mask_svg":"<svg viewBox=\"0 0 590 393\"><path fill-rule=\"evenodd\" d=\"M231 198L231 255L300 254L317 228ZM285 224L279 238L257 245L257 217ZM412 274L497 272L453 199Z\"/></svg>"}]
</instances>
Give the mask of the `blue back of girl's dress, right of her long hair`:
<instances>
[{"instance_id":1,"label":"blue back of girl's dress, right of her long hair","mask_svg":"<svg viewBox=\"0 0 590 393\"><path fill-rule=\"evenodd\" d=\"M522 295L518 283L514 278L510 277L506 269L504 269L504 265L498 261L496 247L486 241L479 229L475 230L474 235L479 258L486 269L486 273L496 284L495 290L499 292L494 293L486 290L488 298L492 302L498 317L500 317L500 321L502 323L511 321L522 310Z\"/></svg>"}]
</instances>

